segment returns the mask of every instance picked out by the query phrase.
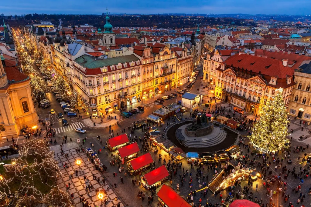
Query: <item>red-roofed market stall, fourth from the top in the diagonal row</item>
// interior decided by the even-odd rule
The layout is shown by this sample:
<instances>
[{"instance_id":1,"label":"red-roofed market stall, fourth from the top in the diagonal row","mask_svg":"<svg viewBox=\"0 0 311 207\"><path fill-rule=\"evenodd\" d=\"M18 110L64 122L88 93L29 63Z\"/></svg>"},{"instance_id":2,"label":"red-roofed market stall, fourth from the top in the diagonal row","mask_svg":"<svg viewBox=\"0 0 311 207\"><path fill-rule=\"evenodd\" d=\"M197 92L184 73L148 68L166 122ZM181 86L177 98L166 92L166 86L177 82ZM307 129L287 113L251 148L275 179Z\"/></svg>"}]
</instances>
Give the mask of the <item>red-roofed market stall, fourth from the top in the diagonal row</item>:
<instances>
[{"instance_id":1,"label":"red-roofed market stall, fourth from the top in the diagonal row","mask_svg":"<svg viewBox=\"0 0 311 207\"><path fill-rule=\"evenodd\" d=\"M162 184L169 177L169 172L167 171L165 165L158 167L146 173L142 176L142 185L150 190L151 188L156 188Z\"/></svg>"}]
</instances>

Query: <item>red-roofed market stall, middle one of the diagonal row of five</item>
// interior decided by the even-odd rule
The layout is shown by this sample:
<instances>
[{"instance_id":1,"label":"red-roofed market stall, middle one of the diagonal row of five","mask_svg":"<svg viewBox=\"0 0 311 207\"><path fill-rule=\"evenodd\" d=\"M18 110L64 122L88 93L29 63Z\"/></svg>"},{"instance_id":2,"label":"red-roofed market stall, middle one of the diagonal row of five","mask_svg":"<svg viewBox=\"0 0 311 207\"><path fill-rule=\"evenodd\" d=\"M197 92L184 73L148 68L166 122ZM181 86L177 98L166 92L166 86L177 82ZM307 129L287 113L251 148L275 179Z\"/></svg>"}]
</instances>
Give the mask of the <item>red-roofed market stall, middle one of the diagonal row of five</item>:
<instances>
[{"instance_id":1,"label":"red-roofed market stall, middle one of the diagonal row of five","mask_svg":"<svg viewBox=\"0 0 311 207\"><path fill-rule=\"evenodd\" d=\"M140 172L149 169L152 163L153 159L148 152L128 162L128 173L130 173L131 175L137 175Z\"/></svg>"}]
</instances>

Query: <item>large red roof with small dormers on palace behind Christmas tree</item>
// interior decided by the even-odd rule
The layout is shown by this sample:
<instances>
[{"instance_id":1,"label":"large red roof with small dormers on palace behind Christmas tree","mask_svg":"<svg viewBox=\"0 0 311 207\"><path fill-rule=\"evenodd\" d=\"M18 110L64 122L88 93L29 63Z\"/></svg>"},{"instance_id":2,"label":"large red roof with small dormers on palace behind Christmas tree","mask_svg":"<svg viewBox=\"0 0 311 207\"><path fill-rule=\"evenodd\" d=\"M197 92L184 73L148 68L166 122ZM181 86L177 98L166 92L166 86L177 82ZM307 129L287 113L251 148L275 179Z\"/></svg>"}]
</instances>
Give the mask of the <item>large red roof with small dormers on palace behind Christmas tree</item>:
<instances>
[{"instance_id":1,"label":"large red roof with small dormers on palace behind Christmas tree","mask_svg":"<svg viewBox=\"0 0 311 207\"><path fill-rule=\"evenodd\" d=\"M294 69L285 67L280 60L247 54L231 56L231 58L228 58L225 61L225 64L228 66L232 65L236 68L244 68L244 70L247 69L248 71L252 70L253 73L259 74L260 72L263 75L278 77L281 79L294 74Z\"/></svg>"}]
</instances>

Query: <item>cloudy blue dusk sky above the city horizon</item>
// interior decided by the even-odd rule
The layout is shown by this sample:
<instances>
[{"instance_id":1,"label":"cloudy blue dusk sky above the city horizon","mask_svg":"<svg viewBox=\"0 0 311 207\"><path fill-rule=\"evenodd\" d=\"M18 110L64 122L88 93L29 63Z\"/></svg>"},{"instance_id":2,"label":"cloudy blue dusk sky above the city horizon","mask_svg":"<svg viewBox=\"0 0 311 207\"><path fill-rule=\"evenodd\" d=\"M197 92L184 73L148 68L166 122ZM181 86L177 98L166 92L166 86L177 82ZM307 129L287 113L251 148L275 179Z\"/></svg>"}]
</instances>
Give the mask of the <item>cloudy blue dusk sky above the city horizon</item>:
<instances>
[{"instance_id":1,"label":"cloudy blue dusk sky above the city horizon","mask_svg":"<svg viewBox=\"0 0 311 207\"><path fill-rule=\"evenodd\" d=\"M310 0L10 0L1 1L0 14L202 13L311 15Z\"/></svg>"}]
</instances>

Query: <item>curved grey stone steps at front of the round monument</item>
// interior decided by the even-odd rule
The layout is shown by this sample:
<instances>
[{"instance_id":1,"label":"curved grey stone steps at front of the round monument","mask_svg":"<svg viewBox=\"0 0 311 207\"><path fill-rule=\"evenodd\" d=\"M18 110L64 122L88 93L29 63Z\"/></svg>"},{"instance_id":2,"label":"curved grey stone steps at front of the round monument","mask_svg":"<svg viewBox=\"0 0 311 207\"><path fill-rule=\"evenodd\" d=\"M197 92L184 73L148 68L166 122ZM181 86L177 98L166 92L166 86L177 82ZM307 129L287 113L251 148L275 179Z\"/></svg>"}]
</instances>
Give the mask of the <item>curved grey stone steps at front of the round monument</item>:
<instances>
[{"instance_id":1,"label":"curved grey stone steps at front of the round monument","mask_svg":"<svg viewBox=\"0 0 311 207\"><path fill-rule=\"evenodd\" d=\"M220 133L216 137L213 137L210 140L206 140L206 141L187 140L186 142L184 142L184 145L190 148L211 147L211 146L215 146L223 142L226 139L226 136L227 136L227 133L224 130L220 130Z\"/></svg>"}]
</instances>

